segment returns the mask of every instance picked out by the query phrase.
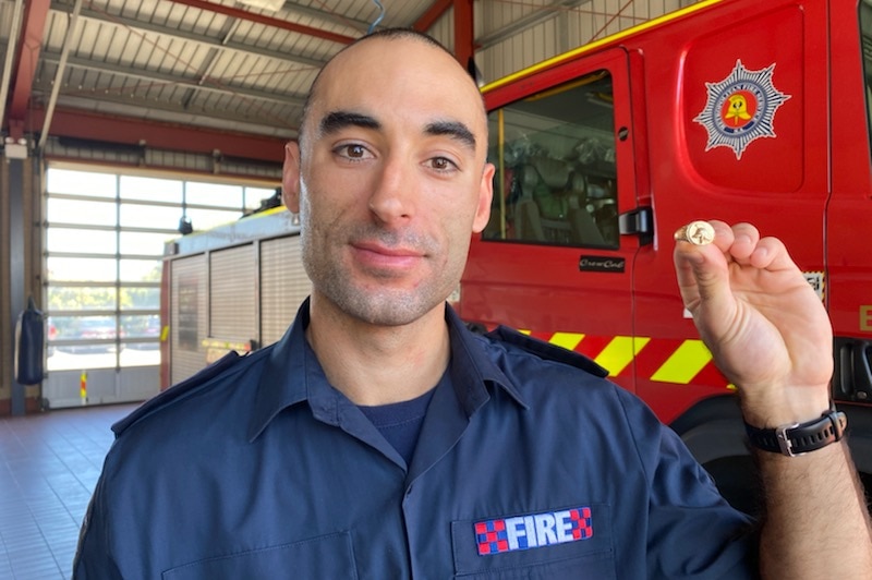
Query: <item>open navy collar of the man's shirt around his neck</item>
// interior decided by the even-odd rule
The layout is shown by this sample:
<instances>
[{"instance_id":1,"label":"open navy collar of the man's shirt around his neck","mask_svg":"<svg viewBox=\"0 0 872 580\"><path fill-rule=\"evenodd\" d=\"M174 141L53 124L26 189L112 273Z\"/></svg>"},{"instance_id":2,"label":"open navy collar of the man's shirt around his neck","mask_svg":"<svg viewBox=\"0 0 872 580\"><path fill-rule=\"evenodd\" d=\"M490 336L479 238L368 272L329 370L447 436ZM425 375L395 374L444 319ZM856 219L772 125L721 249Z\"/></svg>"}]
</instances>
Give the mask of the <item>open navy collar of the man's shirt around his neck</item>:
<instances>
[{"instance_id":1,"label":"open navy collar of the man's shirt around his neck","mask_svg":"<svg viewBox=\"0 0 872 580\"><path fill-rule=\"evenodd\" d=\"M327 383L317 359L313 355L306 357L308 304L310 300L306 299L296 312L293 324L271 347L264 363L255 395L254 412L249 423L250 440L257 438L282 409L303 401L310 401L310 404L317 401L317 407L323 408L329 399L344 399ZM467 416L471 416L489 400L488 385L501 387L518 404L526 408L518 390L488 355L486 339L468 330L448 304L445 306L445 319L451 343L451 383ZM316 367L312 368L313 365ZM336 400L335 404L342 402Z\"/></svg>"}]
</instances>

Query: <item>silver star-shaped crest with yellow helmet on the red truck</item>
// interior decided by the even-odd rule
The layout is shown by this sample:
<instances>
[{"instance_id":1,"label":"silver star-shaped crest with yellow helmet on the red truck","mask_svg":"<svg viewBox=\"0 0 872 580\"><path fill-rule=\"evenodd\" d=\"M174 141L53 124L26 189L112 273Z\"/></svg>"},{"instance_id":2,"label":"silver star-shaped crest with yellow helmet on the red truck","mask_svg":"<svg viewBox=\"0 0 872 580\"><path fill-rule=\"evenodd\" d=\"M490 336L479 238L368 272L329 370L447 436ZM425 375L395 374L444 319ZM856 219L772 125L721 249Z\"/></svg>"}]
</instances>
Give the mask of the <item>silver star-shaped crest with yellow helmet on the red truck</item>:
<instances>
[{"instance_id":1,"label":"silver star-shaped crest with yellow helmet on the red truck","mask_svg":"<svg viewBox=\"0 0 872 580\"><path fill-rule=\"evenodd\" d=\"M775 63L759 71L749 71L741 60L719 83L705 83L707 99L702 112L693 119L708 132L705 150L729 147L736 159L758 138L774 137L775 111L790 98L772 84Z\"/></svg>"}]
</instances>

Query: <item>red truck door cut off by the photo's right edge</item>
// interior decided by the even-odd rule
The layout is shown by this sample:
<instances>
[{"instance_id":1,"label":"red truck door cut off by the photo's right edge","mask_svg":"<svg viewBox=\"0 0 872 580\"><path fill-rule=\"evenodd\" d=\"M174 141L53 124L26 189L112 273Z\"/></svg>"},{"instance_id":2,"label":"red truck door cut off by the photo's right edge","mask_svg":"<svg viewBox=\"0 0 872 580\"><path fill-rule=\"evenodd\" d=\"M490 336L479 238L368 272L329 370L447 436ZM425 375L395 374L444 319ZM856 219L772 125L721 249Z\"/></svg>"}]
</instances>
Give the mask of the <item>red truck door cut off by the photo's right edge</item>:
<instances>
[{"instance_id":1,"label":"red truck door cut off by the photo's right edge","mask_svg":"<svg viewBox=\"0 0 872 580\"><path fill-rule=\"evenodd\" d=\"M831 71L833 184L825 226L825 298L835 335L833 396L837 402L868 403L872 402L872 7L831 3L829 10L832 52L839 55ZM862 456L869 463L863 471L872 472L869 455Z\"/></svg>"}]
</instances>

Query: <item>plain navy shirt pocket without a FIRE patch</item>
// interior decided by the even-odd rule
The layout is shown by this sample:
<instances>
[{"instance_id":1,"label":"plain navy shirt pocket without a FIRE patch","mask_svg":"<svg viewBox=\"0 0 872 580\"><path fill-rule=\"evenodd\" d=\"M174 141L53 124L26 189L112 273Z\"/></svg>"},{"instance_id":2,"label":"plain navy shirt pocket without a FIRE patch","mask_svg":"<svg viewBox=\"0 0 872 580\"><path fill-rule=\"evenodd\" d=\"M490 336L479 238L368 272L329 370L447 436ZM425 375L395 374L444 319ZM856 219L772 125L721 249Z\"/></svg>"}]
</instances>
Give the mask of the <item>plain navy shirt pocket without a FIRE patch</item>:
<instances>
[{"instance_id":1,"label":"plain navy shirt pocket without a FIRE patch","mask_svg":"<svg viewBox=\"0 0 872 580\"><path fill-rule=\"evenodd\" d=\"M161 578L164 580L356 579L358 572L351 534L341 532L199 559L166 570Z\"/></svg>"}]
</instances>

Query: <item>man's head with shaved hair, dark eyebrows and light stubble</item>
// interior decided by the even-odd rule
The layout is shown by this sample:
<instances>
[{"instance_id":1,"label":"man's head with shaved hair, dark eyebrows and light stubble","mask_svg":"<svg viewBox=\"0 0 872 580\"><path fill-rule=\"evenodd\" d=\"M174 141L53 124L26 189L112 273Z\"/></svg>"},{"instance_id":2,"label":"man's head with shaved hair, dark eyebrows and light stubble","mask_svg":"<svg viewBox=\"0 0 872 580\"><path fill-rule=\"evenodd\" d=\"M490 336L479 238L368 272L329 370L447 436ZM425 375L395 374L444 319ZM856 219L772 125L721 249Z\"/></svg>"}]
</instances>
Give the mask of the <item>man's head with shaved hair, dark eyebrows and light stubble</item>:
<instances>
[{"instance_id":1,"label":"man's head with shaved hair, dark eyebrows and light stubble","mask_svg":"<svg viewBox=\"0 0 872 580\"><path fill-rule=\"evenodd\" d=\"M440 305L491 206L471 80L421 40L363 41L324 71L304 130L303 150L288 148L286 203L315 294L386 326Z\"/></svg>"}]
</instances>

